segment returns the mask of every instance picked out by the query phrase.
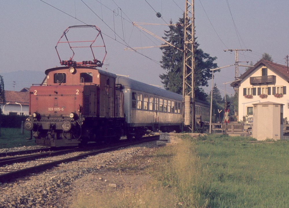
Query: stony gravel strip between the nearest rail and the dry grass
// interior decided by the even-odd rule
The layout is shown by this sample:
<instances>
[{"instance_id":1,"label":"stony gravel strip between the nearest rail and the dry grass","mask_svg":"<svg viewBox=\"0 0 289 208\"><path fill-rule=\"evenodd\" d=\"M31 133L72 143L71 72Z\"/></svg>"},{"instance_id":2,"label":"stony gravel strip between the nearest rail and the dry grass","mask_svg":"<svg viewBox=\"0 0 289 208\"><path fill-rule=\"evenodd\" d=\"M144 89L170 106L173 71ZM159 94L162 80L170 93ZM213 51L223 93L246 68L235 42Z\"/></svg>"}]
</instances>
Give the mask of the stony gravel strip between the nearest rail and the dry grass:
<instances>
[{"instance_id":1,"label":"stony gravel strip between the nearest rail and the dry grass","mask_svg":"<svg viewBox=\"0 0 289 208\"><path fill-rule=\"evenodd\" d=\"M122 174L113 168L119 163L144 167L151 162L149 155L156 149L156 141L147 142L60 164L41 174L32 175L28 181L0 183L0 207L71 207L80 192L101 192L111 188L121 190L127 184L137 189L149 180L149 176Z\"/></svg>"}]
</instances>

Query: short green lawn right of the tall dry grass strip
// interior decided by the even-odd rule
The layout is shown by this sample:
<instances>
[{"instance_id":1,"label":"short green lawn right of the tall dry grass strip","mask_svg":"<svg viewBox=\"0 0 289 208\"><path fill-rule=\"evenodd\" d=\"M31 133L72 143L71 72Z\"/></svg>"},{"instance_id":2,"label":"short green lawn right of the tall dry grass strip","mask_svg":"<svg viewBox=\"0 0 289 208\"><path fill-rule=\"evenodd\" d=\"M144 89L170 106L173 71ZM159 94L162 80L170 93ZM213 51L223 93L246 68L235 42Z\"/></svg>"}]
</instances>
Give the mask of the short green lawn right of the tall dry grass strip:
<instances>
[{"instance_id":1,"label":"short green lawn right of the tall dry grass strip","mask_svg":"<svg viewBox=\"0 0 289 208\"><path fill-rule=\"evenodd\" d=\"M289 206L288 141L212 136L196 145L208 207Z\"/></svg>"}]
</instances>

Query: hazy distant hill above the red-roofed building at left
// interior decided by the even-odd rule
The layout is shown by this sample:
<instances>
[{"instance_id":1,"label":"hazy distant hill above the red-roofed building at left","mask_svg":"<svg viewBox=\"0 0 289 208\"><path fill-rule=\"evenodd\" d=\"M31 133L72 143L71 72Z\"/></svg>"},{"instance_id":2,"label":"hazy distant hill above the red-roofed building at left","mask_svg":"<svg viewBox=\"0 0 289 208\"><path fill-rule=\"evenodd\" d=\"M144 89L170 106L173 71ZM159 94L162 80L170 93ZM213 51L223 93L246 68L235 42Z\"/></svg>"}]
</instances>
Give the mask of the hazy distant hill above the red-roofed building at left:
<instances>
[{"instance_id":1,"label":"hazy distant hill above the red-roofed building at left","mask_svg":"<svg viewBox=\"0 0 289 208\"><path fill-rule=\"evenodd\" d=\"M0 73L3 76L5 90L20 91L29 88L32 84L41 84L45 73L44 71L11 71Z\"/></svg>"}]
</instances>

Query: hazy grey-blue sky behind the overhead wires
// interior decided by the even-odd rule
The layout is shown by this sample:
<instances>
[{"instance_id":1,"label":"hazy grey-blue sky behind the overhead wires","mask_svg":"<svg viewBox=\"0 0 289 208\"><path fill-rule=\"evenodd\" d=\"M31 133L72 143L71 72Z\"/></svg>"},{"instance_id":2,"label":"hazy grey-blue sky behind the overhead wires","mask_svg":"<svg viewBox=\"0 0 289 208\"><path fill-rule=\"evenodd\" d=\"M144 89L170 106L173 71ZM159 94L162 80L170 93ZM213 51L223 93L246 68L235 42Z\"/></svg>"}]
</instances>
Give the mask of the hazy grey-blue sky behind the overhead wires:
<instances>
[{"instance_id":1,"label":"hazy grey-blue sky behind the overhead wires","mask_svg":"<svg viewBox=\"0 0 289 208\"><path fill-rule=\"evenodd\" d=\"M18 70L44 71L60 66L55 46L63 31L72 25L92 24L103 33L107 56L102 69L130 75L148 84L162 85L159 74L162 51L159 48L124 50L130 47L159 46L163 42L134 27L164 35L169 23L182 16L184 0L1 0L0 1L0 74ZM239 61L260 60L264 52L286 65L288 51L289 1L277 0L195 0L195 30L200 48L216 56L219 67L234 64L235 53L224 49L251 49L239 52ZM155 13L160 12L162 18ZM160 25L161 24L161 25ZM81 34L81 36L88 34ZM80 37L80 36L79 36ZM77 54L77 52L75 52ZM85 54L85 52L81 53ZM87 52L88 60L92 60ZM69 59L71 54L62 59ZM102 60L104 54L97 52ZM77 56L75 55L76 61ZM245 64L245 63L244 63ZM239 75L245 67L239 67ZM235 67L221 69L214 81L223 93L225 82L234 80ZM33 80L33 79L32 79ZM4 80L5 81L5 80ZM31 83L32 84L32 83ZM209 87L205 92L209 93ZM29 86L27 86L29 87ZM226 86L226 91L234 90Z\"/></svg>"}]
</instances>

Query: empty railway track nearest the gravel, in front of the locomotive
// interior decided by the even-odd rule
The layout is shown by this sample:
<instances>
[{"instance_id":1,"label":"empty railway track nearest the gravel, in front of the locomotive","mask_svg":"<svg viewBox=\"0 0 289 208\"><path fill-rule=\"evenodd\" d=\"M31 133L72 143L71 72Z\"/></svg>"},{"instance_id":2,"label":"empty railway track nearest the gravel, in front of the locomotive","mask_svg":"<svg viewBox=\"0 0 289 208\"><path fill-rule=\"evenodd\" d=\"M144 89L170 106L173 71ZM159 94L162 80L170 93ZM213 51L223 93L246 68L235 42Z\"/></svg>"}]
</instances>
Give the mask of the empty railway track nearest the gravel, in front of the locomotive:
<instances>
[{"instance_id":1,"label":"empty railway track nearest the gravel, in front of the locomotive","mask_svg":"<svg viewBox=\"0 0 289 208\"><path fill-rule=\"evenodd\" d=\"M69 149L69 150L57 150L53 152L38 153L30 156L23 156L21 158L14 158L12 160L0 161L0 182L8 183L15 179L27 180L29 174L39 173L41 171L55 167L58 164L64 162L70 162L74 160L79 160L85 158L89 155L95 155L103 152L109 152L116 150L118 148L127 147L129 145L136 145L143 142L157 140L159 136L151 136L147 139L142 139L140 141L132 142L122 142L111 147L101 148L95 150L95 148L90 150L84 149ZM30 162L27 162L30 161ZM15 168L13 164L23 162L23 165L18 164ZM21 168L18 168L20 167Z\"/></svg>"}]
</instances>

